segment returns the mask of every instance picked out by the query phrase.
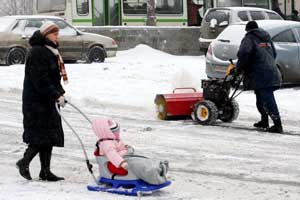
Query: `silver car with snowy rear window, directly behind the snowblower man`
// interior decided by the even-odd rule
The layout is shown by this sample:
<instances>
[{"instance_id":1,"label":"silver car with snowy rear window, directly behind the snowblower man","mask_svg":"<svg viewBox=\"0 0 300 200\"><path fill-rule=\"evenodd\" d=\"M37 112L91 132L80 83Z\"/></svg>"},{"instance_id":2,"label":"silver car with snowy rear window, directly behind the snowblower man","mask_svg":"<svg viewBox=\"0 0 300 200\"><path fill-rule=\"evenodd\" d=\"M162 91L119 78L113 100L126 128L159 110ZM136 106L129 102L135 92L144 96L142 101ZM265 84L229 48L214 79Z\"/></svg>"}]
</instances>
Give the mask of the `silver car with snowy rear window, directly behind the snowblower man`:
<instances>
[{"instance_id":1,"label":"silver car with snowy rear window, directly behind the snowblower man","mask_svg":"<svg viewBox=\"0 0 300 200\"><path fill-rule=\"evenodd\" d=\"M259 20L277 51L276 64L283 82L300 83L300 23L282 20ZM246 23L228 26L209 46L206 54L206 74L209 78L224 78L229 59L237 61L237 52L246 33Z\"/></svg>"}]
</instances>

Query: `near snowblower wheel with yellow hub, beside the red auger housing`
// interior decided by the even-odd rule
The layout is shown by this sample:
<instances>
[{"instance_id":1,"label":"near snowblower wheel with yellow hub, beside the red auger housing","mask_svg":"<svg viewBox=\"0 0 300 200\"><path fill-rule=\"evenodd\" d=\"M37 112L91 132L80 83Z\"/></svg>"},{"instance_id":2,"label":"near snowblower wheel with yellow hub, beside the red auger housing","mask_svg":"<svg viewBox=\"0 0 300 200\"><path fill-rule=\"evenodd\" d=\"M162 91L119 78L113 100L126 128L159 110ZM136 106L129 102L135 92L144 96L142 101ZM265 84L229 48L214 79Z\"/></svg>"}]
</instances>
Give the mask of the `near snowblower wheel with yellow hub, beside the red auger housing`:
<instances>
[{"instance_id":1,"label":"near snowblower wheel with yellow hub, beside the red auger housing","mask_svg":"<svg viewBox=\"0 0 300 200\"><path fill-rule=\"evenodd\" d=\"M199 124L211 125L218 119L218 108L212 101L200 101L195 105L194 115Z\"/></svg>"}]
</instances>

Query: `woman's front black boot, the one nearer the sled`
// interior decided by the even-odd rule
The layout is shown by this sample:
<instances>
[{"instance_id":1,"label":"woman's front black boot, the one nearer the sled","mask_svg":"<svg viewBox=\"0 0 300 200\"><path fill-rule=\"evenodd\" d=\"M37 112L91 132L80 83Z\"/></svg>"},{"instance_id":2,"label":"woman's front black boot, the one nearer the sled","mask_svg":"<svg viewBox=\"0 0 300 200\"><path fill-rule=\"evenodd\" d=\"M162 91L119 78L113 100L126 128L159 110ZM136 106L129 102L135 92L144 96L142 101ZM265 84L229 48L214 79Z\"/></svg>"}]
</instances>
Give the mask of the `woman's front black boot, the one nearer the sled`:
<instances>
[{"instance_id":1,"label":"woman's front black boot, the one nearer the sled","mask_svg":"<svg viewBox=\"0 0 300 200\"><path fill-rule=\"evenodd\" d=\"M60 181L64 180L63 177L58 177L50 171L50 162L51 162L52 148L42 150L40 152L40 161L41 161L41 172L40 179L43 181Z\"/></svg>"}]
</instances>

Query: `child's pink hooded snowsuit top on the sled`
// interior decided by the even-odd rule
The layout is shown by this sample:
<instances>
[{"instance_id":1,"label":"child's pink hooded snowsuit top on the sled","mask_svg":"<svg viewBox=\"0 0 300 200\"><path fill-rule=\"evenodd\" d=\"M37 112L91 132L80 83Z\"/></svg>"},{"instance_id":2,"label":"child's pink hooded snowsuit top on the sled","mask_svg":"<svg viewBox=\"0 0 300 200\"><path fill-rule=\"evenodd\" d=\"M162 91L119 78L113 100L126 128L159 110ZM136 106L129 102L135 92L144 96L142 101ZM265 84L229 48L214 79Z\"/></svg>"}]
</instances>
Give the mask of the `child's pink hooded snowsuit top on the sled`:
<instances>
[{"instance_id":1,"label":"child's pink hooded snowsuit top on the sled","mask_svg":"<svg viewBox=\"0 0 300 200\"><path fill-rule=\"evenodd\" d=\"M100 155L106 156L115 167L120 167L125 161L123 156L127 154L127 147L120 140L120 132L110 130L112 123L110 119L96 119L92 129L99 138Z\"/></svg>"}]
</instances>

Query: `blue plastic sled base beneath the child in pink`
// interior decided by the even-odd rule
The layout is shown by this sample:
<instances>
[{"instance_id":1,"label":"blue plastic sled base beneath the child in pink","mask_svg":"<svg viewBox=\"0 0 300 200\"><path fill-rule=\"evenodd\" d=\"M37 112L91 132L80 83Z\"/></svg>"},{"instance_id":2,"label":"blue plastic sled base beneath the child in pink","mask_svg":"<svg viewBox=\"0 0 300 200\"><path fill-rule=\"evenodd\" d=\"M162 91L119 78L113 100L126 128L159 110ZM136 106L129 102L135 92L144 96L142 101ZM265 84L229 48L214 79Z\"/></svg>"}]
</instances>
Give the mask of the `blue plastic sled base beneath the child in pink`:
<instances>
[{"instance_id":1,"label":"blue plastic sled base beneath the child in pink","mask_svg":"<svg viewBox=\"0 0 300 200\"><path fill-rule=\"evenodd\" d=\"M149 194L171 184L171 181L166 181L165 183L160 185L151 185L143 180L112 180L103 177L100 178L99 182L103 185L88 185L87 189L97 192L109 192L114 194L138 196L138 193Z\"/></svg>"}]
</instances>

